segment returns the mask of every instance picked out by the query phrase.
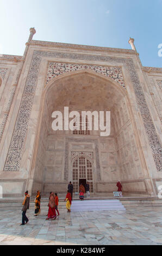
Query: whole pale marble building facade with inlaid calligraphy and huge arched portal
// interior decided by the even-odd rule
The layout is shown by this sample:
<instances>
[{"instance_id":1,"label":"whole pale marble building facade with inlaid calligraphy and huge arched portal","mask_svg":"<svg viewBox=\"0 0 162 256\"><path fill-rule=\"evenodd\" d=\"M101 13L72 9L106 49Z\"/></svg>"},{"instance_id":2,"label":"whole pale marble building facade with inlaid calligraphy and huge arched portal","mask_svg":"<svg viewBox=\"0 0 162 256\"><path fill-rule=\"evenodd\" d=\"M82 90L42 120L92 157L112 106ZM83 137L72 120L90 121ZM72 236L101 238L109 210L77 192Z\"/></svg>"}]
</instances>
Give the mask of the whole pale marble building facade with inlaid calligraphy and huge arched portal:
<instances>
[{"instance_id":1,"label":"whole pale marble building facade with inlaid calligraphy and huge arched portal","mask_svg":"<svg viewBox=\"0 0 162 256\"><path fill-rule=\"evenodd\" d=\"M91 163L94 193L115 191L120 179L125 193L155 196L162 183L161 84L162 68L142 66L136 50L30 36L23 56L0 56L4 196L65 193L81 155ZM110 111L110 136L53 131L52 112L64 106Z\"/></svg>"}]
</instances>

